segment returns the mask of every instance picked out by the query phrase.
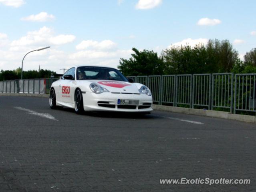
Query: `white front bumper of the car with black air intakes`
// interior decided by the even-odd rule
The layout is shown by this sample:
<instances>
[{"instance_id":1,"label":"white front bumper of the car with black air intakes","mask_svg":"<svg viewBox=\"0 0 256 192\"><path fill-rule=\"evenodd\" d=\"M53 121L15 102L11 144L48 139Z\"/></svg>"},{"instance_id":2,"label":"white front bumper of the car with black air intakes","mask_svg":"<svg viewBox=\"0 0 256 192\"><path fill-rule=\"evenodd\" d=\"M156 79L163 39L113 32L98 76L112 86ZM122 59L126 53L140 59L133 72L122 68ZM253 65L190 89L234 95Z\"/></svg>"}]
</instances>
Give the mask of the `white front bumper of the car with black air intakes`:
<instances>
[{"instance_id":1,"label":"white front bumper of the car with black air intakes","mask_svg":"<svg viewBox=\"0 0 256 192\"><path fill-rule=\"evenodd\" d=\"M117 100L139 100L139 105L118 105ZM83 93L85 111L151 112L152 96L146 94Z\"/></svg>"}]
</instances>

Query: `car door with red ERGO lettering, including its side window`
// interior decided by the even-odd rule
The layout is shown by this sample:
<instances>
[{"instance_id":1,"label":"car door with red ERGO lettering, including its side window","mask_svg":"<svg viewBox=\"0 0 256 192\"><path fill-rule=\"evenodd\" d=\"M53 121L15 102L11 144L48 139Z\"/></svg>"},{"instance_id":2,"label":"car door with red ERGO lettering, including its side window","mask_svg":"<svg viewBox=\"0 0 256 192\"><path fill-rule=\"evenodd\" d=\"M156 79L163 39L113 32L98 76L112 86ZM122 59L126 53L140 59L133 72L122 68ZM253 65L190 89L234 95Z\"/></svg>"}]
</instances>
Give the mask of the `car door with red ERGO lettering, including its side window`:
<instances>
[{"instance_id":1,"label":"car door with red ERGO lettering, including its side window","mask_svg":"<svg viewBox=\"0 0 256 192\"><path fill-rule=\"evenodd\" d=\"M65 79L65 75L72 75L73 79ZM75 67L69 69L61 78L59 88L60 88L60 100L65 103L73 103L73 94L75 86Z\"/></svg>"}]
</instances>

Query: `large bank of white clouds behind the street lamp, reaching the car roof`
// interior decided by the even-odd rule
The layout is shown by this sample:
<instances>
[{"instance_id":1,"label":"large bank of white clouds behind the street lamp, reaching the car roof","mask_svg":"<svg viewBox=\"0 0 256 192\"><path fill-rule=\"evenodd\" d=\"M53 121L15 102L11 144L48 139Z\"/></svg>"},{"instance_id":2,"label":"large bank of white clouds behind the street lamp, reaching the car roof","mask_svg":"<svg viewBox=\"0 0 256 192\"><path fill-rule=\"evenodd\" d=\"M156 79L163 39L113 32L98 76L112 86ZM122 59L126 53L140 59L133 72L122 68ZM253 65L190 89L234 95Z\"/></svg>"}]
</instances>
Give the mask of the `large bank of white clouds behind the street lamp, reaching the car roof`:
<instances>
[{"instance_id":1,"label":"large bank of white clouds behind the street lamp, reaching the car roof","mask_svg":"<svg viewBox=\"0 0 256 192\"><path fill-rule=\"evenodd\" d=\"M73 39L75 36L72 35L54 34L54 31L48 27L27 32L25 36L12 41L4 35L4 38L0 39L0 70L20 67L21 60L27 52L48 45L51 46L50 49L33 52L26 57L24 70L38 70L40 65L41 69L62 73L60 68L81 64L117 68L120 58L131 57L132 50L120 50L111 40L89 41L89 46L85 44L84 50L76 50L72 46L71 50L67 51L61 50L62 46L58 46Z\"/></svg>"}]
</instances>

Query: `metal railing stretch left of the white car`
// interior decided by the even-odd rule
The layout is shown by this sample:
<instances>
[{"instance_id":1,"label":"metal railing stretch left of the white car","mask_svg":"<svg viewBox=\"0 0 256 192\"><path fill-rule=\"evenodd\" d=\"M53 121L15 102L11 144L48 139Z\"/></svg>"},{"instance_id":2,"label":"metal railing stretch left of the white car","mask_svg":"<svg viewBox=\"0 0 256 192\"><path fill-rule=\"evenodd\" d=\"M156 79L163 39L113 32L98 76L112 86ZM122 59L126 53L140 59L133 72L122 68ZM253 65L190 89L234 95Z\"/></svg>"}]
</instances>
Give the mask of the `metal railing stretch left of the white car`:
<instances>
[{"instance_id":1,"label":"metal railing stretch left of the white car","mask_svg":"<svg viewBox=\"0 0 256 192\"><path fill-rule=\"evenodd\" d=\"M58 78L0 81L0 93L48 94L56 80Z\"/></svg>"}]
</instances>

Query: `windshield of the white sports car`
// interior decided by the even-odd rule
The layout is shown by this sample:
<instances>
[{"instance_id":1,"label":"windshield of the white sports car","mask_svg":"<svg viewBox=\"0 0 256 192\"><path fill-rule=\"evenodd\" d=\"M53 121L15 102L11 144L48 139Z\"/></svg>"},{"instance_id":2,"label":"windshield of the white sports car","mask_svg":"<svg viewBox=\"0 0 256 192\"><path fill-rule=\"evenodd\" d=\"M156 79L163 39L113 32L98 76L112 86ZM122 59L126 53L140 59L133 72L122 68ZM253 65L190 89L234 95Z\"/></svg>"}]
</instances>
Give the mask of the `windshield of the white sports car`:
<instances>
[{"instance_id":1,"label":"windshield of the white sports car","mask_svg":"<svg viewBox=\"0 0 256 192\"><path fill-rule=\"evenodd\" d=\"M128 80L119 72L119 70L105 67L78 67L77 68L77 80Z\"/></svg>"}]
</instances>

